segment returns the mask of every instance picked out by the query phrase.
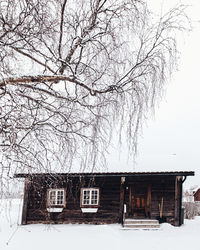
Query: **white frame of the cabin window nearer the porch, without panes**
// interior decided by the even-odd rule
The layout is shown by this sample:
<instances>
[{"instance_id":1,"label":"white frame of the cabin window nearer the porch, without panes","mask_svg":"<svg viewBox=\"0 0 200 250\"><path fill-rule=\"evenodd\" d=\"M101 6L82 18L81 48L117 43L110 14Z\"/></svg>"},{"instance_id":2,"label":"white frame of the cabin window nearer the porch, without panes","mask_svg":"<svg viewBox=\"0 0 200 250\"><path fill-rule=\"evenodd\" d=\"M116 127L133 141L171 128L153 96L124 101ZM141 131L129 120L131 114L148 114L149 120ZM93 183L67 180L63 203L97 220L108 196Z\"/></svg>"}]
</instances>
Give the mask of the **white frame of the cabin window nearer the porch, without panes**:
<instances>
[{"instance_id":1,"label":"white frame of the cabin window nearer the porch, without panes","mask_svg":"<svg viewBox=\"0 0 200 250\"><path fill-rule=\"evenodd\" d=\"M89 204L84 204L84 191L89 191ZM92 204L92 191L97 191L97 204ZM81 208L98 208L100 205L100 189L96 187L81 188L80 207Z\"/></svg>"}]
</instances>

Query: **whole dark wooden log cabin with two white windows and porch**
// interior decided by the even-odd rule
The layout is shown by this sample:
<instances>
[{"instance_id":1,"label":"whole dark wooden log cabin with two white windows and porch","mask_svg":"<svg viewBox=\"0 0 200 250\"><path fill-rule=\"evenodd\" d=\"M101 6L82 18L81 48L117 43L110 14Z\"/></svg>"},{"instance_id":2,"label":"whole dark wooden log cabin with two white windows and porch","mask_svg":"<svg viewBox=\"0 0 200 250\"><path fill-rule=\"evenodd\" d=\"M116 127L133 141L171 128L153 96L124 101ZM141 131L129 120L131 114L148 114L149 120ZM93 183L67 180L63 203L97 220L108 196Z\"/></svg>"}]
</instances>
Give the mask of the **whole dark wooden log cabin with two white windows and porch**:
<instances>
[{"instance_id":1,"label":"whole dark wooden log cabin with two white windows and porch","mask_svg":"<svg viewBox=\"0 0 200 250\"><path fill-rule=\"evenodd\" d=\"M182 185L194 172L16 174L25 178L22 224L182 224Z\"/></svg>"}]
</instances>

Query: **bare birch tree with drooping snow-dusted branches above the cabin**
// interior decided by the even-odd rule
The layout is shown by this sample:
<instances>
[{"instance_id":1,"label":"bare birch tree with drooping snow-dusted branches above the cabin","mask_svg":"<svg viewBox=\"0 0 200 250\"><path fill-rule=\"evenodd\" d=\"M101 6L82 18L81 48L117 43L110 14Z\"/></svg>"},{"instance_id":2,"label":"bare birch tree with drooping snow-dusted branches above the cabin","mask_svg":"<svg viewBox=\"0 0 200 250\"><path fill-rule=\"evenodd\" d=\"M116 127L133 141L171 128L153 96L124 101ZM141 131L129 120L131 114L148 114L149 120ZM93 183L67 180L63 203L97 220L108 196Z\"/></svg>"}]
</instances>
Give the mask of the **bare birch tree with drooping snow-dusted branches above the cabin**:
<instances>
[{"instance_id":1,"label":"bare birch tree with drooping snow-dusted branches above the cabin","mask_svg":"<svg viewBox=\"0 0 200 250\"><path fill-rule=\"evenodd\" d=\"M141 0L2 0L1 168L94 170L118 128L130 151L176 68L184 7Z\"/></svg>"}]
</instances>

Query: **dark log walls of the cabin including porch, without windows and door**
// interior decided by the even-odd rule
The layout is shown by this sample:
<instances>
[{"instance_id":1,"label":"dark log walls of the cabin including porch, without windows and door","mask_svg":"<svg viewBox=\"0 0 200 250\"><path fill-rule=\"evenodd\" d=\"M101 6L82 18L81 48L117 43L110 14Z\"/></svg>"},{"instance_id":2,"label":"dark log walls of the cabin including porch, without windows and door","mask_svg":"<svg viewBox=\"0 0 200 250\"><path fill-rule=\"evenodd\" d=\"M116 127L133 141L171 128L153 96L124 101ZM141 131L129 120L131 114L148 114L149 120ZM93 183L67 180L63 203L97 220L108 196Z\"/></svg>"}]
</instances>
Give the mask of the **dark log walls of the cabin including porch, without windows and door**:
<instances>
[{"instance_id":1,"label":"dark log walls of the cabin including porch, without windows and door","mask_svg":"<svg viewBox=\"0 0 200 250\"><path fill-rule=\"evenodd\" d=\"M32 177L26 181L23 224L26 223L121 223L123 204L129 211L130 186L137 183L146 186L149 218L159 216L159 204L163 198L163 216L173 225L180 224L181 185L176 176L126 177ZM99 187L100 204L97 213L82 213L80 208L80 189ZM47 212L47 190L66 189L66 207L61 213ZM126 214L130 217L130 214Z\"/></svg>"}]
</instances>

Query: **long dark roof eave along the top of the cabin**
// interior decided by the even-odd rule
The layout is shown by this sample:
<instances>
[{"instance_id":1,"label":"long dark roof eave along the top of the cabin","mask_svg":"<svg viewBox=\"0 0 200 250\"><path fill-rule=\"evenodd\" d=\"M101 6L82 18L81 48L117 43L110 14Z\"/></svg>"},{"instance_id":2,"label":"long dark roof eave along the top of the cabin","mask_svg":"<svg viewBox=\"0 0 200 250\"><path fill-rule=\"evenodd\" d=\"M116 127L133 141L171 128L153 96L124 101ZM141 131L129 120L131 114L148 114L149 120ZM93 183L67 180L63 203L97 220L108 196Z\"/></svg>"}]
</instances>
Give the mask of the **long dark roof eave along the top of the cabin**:
<instances>
[{"instance_id":1,"label":"long dark roof eave along the top of the cabin","mask_svg":"<svg viewBox=\"0 0 200 250\"><path fill-rule=\"evenodd\" d=\"M27 178L27 177L104 177L104 176L194 176L194 171L173 171L173 172L92 172L92 173L18 173L15 174L15 178Z\"/></svg>"}]
</instances>

